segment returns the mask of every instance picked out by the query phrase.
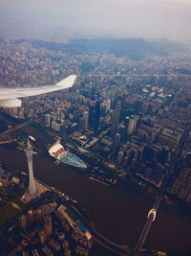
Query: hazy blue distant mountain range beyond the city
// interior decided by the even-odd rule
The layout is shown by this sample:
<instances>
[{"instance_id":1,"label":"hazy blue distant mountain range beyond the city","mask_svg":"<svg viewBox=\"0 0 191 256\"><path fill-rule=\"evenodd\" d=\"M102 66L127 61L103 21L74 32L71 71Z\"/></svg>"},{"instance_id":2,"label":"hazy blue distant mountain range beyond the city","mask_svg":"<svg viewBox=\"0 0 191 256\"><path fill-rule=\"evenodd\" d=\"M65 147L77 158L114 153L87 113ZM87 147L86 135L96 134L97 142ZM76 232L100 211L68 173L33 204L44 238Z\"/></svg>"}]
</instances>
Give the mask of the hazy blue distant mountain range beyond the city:
<instances>
[{"instance_id":1,"label":"hazy blue distant mountain range beyond the city","mask_svg":"<svg viewBox=\"0 0 191 256\"><path fill-rule=\"evenodd\" d=\"M145 40L142 38L74 38L69 43L32 41L35 47L71 54L105 53L117 57L126 56L141 59L147 55L167 56L175 52L187 52L189 48L182 43L167 39Z\"/></svg>"}]
</instances>

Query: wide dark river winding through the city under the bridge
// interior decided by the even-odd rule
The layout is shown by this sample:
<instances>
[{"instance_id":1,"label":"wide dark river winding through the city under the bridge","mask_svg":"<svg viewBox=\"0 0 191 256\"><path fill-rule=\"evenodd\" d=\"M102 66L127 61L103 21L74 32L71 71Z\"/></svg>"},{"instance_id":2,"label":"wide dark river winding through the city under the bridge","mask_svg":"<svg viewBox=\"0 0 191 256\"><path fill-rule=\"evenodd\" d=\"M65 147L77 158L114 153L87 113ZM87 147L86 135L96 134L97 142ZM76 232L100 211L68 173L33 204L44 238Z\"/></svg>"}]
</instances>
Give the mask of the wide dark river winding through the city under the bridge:
<instances>
[{"instance_id":1,"label":"wide dark river winding through the city under the bridge","mask_svg":"<svg viewBox=\"0 0 191 256\"><path fill-rule=\"evenodd\" d=\"M115 187L93 182L80 172L55 165L43 154L33 159L34 176L77 200L91 214L100 233L117 244L137 244L153 198L121 182ZM28 170L23 151L0 147L0 160L14 169ZM161 205L144 245L170 255L188 255L191 221Z\"/></svg>"}]
</instances>

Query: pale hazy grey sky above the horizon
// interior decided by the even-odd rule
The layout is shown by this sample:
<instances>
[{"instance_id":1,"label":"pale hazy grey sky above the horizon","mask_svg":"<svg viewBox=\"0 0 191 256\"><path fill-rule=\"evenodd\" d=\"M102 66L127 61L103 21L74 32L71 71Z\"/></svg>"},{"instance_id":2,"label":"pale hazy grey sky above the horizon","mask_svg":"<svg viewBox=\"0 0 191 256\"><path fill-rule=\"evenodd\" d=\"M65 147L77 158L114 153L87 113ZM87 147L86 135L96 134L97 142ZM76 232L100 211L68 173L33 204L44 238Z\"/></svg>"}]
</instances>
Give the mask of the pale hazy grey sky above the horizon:
<instances>
[{"instance_id":1,"label":"pale hazy grey sky above the horizon","mask_svg":"<svg viewBox=\"0 0 191 256\"><path fill-rule=\"evenodd\" d=\"M0 0L8 22L88 35L191 39L191 0Z\"/></svg>"}]
</instances>

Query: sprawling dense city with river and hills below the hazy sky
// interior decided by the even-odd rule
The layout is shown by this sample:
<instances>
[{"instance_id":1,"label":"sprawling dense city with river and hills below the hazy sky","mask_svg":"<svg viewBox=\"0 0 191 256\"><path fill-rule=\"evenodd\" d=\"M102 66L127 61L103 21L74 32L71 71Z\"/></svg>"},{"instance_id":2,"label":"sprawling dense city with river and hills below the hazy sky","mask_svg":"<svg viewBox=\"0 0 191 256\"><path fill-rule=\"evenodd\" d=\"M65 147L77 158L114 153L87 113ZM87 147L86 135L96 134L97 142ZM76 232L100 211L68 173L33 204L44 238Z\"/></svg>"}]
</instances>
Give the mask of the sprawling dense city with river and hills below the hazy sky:
<instances>
[{"instance_id":1,"label":"sprawling dense city with river and hills below the hazy sky","mask_svg":"<svg viewBox=\"0 0 191 256\"><path fill-rule=\"evenodd\" d=\"M191 255L190 41L14 25L1 87L76 79L0 108L0 255Z\"/></svg>"}]
</instances>

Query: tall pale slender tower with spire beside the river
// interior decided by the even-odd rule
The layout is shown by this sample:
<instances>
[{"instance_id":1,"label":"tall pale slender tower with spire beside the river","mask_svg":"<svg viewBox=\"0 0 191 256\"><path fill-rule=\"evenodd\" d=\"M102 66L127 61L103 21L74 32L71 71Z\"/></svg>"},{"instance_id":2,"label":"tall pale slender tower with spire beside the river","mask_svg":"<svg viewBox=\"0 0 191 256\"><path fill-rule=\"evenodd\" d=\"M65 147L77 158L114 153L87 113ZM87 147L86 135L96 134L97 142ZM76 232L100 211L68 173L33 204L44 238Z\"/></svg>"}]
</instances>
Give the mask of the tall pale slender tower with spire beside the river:
<instances>
[{"instance_id":1,"label":"tall pale slender tower with spire beside the river","mask_svg":"<svg viewBox=\"0 0 191 256\"><path fill-rule=\"evenodd\" d=\"M25 150L27 154L28 167L29 167L29 175L30 175L30 184L29 184L29 193L31 196L36 194L35 183L33 179L33 169L32 169L32 145L30 143L30 137L28 137L28 147Z\"/></svg>"}]
</instances>

